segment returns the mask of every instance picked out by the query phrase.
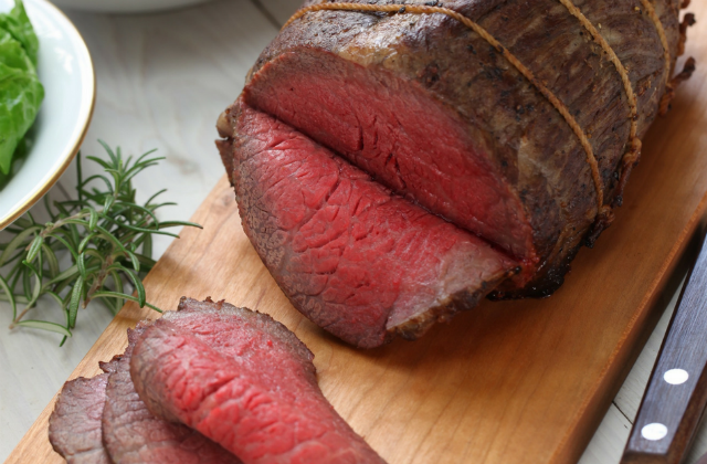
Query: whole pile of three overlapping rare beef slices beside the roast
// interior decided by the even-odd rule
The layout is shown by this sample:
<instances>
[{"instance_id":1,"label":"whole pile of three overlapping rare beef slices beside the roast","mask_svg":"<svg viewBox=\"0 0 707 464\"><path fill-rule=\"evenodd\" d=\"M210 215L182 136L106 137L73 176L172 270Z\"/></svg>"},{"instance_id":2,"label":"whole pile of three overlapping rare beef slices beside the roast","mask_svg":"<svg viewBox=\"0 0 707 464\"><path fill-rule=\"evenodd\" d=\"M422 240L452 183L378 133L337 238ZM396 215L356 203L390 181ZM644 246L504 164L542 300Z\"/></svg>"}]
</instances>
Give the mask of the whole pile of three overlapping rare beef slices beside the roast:
<instances>
[{"instance_id":1,"label":"whole pile of three overlapping rare beef slices beside the roast","mask_svg":"<svg viewBox=\"0 0 707 464\"><path fill-rule=\"evenodd\" d=\"M68 464L384 464L272 317L182 297L128 330L105 373L68 381L49 437Z\"/></svg>"}]
</instances>

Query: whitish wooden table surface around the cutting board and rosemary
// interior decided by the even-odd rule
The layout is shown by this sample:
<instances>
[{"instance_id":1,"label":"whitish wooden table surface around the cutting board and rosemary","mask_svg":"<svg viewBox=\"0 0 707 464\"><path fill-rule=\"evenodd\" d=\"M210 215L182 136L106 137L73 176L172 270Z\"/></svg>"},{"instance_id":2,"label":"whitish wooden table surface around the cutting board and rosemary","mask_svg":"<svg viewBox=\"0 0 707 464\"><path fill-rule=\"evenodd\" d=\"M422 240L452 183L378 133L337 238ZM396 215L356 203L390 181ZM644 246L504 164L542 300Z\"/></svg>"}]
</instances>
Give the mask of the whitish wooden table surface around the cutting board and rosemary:
<instances>
[{"instance_id":1,"label":"whitish wooden table surface around the cutting board and rosemary","mask_svg":"<svg viewBox=\"0 0 707 464\"><path fill-rule=\"evenodd\" d=\"M167 188L179 207L160 217L189 218L223 175L213 145L217 116L239 94L245 73L278 24L298 6L299 0L221 0L143 15L66 11L92 52L98 87L83 152L101 154L98 138L130 154L158 148L167 159L136 179L138 200ZM73 190L74 180L72 166L50 194L62 198L63 191ZM156 242L156 256L168 243ZM675 299L672 292L664 296L663 318L581 464L619 462ZM75 335L63 348L53 334L9 330L10 320L9 306L0 304L0 461L61 388L110 314L102 306L82 310ZM705 452L707 428L700 430L687 462Z\"/></svg>"}]
</instances>

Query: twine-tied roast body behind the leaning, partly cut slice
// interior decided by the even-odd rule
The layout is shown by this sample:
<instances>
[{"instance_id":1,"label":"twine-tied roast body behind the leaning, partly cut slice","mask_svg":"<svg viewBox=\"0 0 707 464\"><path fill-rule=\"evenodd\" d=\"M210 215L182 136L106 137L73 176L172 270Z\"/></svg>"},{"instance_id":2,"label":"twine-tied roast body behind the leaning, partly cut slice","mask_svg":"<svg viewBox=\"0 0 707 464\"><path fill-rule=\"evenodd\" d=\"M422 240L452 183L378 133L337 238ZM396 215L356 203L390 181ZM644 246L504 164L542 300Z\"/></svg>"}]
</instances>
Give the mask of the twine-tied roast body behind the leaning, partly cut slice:
<instances>
[{"instance_id":1,"label":"twine-tied roast body behind the leaning, partly cut slice","mask_svg":"<svg viewBox=\"0 0 707 464\"><path fill-rule=\"evenodd\" d=\"M519 260L497 297L549 295L611 222L673 91L679 1L443 7L498 45L440 13L312 11L261 54L244 102Z\"/></svg>"}]
</instances>

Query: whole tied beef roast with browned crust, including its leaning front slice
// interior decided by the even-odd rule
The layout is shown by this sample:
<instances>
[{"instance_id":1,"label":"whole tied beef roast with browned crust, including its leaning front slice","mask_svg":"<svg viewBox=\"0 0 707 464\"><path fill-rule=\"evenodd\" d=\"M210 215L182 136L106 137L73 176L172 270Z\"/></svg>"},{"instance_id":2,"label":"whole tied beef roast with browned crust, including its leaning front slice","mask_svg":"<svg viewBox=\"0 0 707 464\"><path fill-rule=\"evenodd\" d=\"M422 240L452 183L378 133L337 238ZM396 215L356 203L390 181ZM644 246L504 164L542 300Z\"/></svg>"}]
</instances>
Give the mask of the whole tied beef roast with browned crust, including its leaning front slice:
<instances>
[{"instance_id":1,"label":"whole tied beef roast with browned crust, including its leaning front slice","mask_svg":"<svg viewBox=\"0 0 707 464\"><path fill-rule=\"evenodd\" d=\"M219 118L245 233L371 348L547 296L613 220L675 86L676 0L308 2Z\"/></svg>"}]
</instances>

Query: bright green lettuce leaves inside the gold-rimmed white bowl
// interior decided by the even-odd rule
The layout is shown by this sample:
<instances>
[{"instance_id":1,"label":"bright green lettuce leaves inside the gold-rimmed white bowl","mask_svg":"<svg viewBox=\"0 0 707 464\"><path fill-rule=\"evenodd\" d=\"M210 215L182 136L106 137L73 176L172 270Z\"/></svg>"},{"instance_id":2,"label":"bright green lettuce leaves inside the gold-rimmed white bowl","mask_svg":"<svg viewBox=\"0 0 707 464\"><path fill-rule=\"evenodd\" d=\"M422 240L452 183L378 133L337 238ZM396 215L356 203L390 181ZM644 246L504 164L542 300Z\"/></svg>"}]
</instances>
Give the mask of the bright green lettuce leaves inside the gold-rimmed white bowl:
<instances>
[{"instance_id":1,"label":"bright green lettuce leaves inside the gold-rimmed white bowl","mask_svg":"<svg viewBox=\"0 0 707 464\"><path fill-rule=\"evenodd\" d=\"M36 75L39 41L19 0L0 14L0 173L10 171L12 157L34 123L44 98Z\"/></svg>"}]
</instances>

